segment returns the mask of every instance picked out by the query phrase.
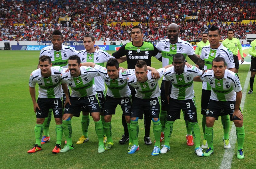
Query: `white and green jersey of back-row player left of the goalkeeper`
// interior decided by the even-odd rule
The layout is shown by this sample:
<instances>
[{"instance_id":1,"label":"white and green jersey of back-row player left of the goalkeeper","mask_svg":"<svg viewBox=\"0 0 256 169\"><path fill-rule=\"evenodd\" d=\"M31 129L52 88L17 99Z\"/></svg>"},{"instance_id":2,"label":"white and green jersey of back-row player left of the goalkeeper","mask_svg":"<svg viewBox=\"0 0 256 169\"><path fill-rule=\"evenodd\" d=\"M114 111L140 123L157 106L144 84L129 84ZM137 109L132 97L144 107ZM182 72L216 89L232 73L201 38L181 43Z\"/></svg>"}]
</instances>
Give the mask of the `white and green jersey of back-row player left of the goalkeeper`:
<instances>
[{"instance_id":1,"label":"white and green jersey of back-row player left of the goalkeeper","mask_svg":"<svg viewBox=\"0 0 256 169\"><path fill-rule=\"evenodd\" d=\"M81 50L78 53L78 57L80 57L81 63L93 62L104 67L104 63L113 56L111 56L104 50L95 50L95 52L93 53L88 53L86 50ZM97 91L106 90L104 80L101 76L95 77L93 80L93 84L96 86Z\"/></svg>"}]
</instances>

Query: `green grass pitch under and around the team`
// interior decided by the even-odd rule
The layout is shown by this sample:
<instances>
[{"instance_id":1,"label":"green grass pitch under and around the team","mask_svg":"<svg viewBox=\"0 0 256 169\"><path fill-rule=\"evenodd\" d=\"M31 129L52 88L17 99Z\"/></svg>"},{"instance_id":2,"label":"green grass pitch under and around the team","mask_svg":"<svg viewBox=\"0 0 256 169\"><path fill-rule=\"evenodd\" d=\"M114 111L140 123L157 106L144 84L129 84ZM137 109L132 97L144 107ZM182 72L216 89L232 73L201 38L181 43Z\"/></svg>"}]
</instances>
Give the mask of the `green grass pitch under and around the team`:
<instances>
[{"instance_id":1,"label":"green grass pitch under and around the team","mask_svg":"<svg viewBox=\"0 0 256 169\"><path fill-rule=\"evenodd\" d=\"M109 51L112 53L113 51ZM39 51L0 51L0 168L69 168L69 169L93 169L93 168L220 168L225 152L223 148L223 129L221 120L214 125L214 153L210 157L198 157L194 153L194 147L186 145L185 122L181 117L175 121L173 133L171 135L171 150L167 154L151 156L153 145L144 144L144 125L139 121L139 145L140 151L135 154L127 154L128 144L119 145L119 139L123 135L121 122L121 109L118 106L116 115L112 117L112 137L114 146L110 151L102 154L97 153L98 140L95 134L95 127L90 118L89 138L90 140L82 145L76 145L76 141L81 136L81 116L72 118L73 144L74 150L66 153L53 154L51 151L55 146L55 122L50 124L51 141L42 146L43 151L28 154L27 151L35 143L34 126L36 116L33 112L33 104L29 95L29 75L36 69L38 64ZM189 63L194 63L188 60ZM120 66L126 67L126 63ZM160 68L161 63L152 58L152 67ZM243 88L250 65L240 65L239 77ZM250 76L250 74L249 74ZM159 81L159 84L161 81ZM201 130L202 143L202 115L200 110L202 84L195 82L195 97L198 109L198 122ZM256 90L256 89L255 89ZM248 90L247 90L248 91ZM244 128L245 159L238 160L234 152L231 168L247 169L255 167L256 146L254 140L256 132L254 129L256 121L255 95L247 94L244 101ZM231 124L230 126L232 126ZM151 123L151 129L153 124ZM231 127L230 127L231 128ZM154 134L151 130L150 137L154 143ZM64 135L62 145L64 147ZM237 143L234 145L237 147ZM236 148L235 148L236 150ZM229 166L227 165L227 168Z\"/></svg>"}]
</instances>

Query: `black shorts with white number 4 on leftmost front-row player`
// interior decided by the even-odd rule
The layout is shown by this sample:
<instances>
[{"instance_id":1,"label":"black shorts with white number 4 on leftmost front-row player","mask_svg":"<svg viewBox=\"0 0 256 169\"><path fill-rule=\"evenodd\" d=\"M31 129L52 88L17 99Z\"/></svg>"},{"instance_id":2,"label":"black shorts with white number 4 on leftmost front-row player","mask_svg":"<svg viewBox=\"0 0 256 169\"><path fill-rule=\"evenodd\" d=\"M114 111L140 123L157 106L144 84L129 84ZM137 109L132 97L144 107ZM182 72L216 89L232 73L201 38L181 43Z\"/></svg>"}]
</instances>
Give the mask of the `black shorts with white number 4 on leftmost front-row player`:
<instances>
[{"instance_id":1,"label":"black shorts with white number 4 on leftmost front-row player","mask_svg":"<svg viewBox=\"0 0 256 169\"><path fill-rule=\"evenodd\" d=\"M62 118L62 98L38 98L37 104L40 110L36 109L36 118L48 117L49 109L53 110L54 118Z\"/></svg>"}]
</instances>

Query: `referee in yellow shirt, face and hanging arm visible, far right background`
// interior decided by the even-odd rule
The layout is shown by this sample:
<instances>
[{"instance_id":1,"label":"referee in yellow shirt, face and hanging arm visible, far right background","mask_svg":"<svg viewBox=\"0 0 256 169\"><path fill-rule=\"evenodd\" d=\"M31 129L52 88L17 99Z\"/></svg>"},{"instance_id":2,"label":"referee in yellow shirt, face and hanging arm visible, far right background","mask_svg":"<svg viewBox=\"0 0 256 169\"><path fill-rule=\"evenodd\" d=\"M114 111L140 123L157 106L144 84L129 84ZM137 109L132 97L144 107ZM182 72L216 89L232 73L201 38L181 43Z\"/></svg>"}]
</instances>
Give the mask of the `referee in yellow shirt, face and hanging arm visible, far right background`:
<instances>
[{"instance_id":1,"label":"referee in yellow shirt, face and hanging arm visible, far right background","mask_svg":"<svg viewBox=\"0 0 256 169\"><path fill-rule=\"evenodd\" d=\"M235 63L235 73L238 73L239 69L239 59L238 59L238 52L237 48L239 50L240 56L241 56L241 63L244 63L244 53L242 49L242 45L240 44L239 39L234 38L234 30L233 29L228 29L227 30L227 39L222 41L223 46L227 47L232 53L234 57L234 63Z\"/></svg>"}]
</instances>

